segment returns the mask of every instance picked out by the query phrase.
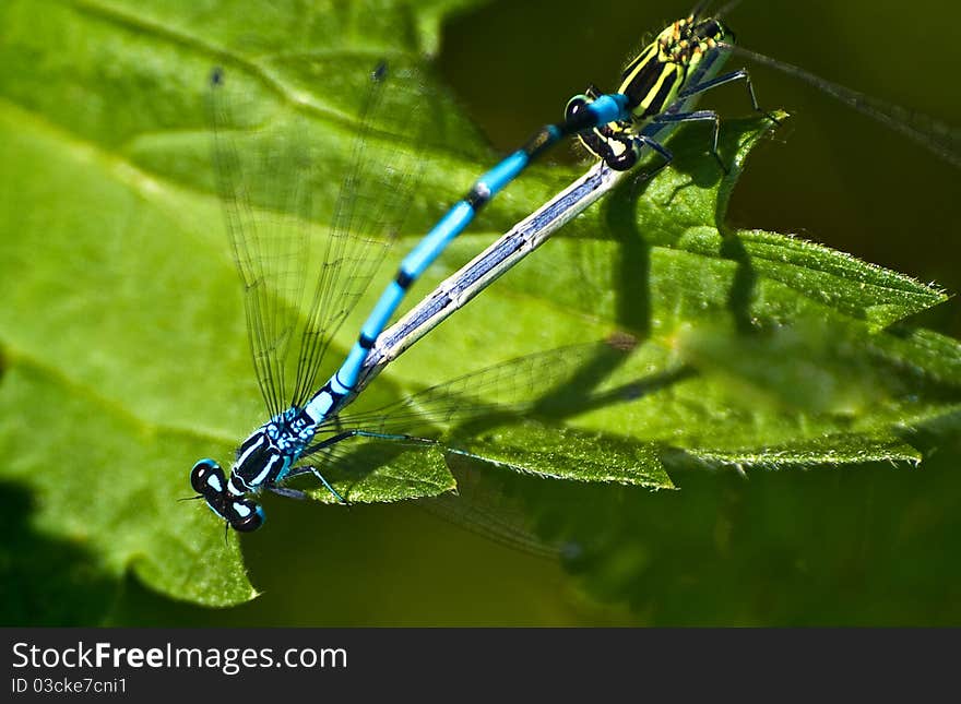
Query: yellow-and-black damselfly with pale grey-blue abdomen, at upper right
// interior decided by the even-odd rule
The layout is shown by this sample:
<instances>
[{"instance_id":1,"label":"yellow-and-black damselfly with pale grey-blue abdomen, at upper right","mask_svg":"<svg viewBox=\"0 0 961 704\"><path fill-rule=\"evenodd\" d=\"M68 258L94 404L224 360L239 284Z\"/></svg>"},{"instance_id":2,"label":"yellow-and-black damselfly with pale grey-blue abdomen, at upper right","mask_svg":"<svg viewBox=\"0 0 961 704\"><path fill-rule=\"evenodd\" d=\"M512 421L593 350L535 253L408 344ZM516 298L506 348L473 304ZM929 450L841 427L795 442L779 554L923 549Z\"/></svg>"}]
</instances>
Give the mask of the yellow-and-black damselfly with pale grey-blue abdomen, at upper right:
<instances>
[{"instance_id":1,"label":"yellow-and-black damselfly with pale grey-blue abdomen, at upper right","mask_svg":"<svg viewBox=\"0 0 961 704\"><path fill-rule=\"evenodd\" d=\"M645 174L648 177L666 166L672 153L664 141L679 123L711 123L709 151L720 163L717 138L721 119L713 110L692 110L693 103L714 87L741 82L754 109L762 111L747 69L720 73L724 61L731 56L743 56L800 79L911 138L948 163L961 166L957 148L958 131L953 128L734 45L734 35L721 16L739 2L729 2L711 15L707 14L709 2L698 3L687 17L665 27L628 63L617 93L627 95L629 105L633 106L630 118L578 135L598 158L597 164L514 225L503 237L442 282L394 326L385 330L365 365L363 383L367 383L383 366L547 241L557 229L614 189L642 158L654 154L661 160L652 171ZM584 109L592 96L596 95L601 93L591 87L584 95L572 98L567 107L568 117ZM724 168L723 164L721 168Z\"/></svg>"}]
</instances>

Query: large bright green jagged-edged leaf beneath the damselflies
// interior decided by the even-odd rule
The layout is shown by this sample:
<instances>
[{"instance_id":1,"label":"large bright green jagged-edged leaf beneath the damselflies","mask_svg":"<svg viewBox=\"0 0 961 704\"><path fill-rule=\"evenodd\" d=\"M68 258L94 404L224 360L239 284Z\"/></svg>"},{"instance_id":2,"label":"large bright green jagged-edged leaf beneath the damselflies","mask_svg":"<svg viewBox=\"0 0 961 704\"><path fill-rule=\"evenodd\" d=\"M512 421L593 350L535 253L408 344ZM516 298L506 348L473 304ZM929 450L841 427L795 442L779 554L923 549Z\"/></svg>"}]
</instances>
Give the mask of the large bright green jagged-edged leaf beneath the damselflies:
<instances>
[{"instance_id":1,"label":"large bright green jagged-edged leaf beneath the damselflies","mask_svg":"<svg viewBox=\"0 0 961 704\"><path fill-rule=\"evenodd\" d=\"M307 119L311 139L331 147L317 193L329 207L366 72L382 56L410 60L435 46L437 23L455 4L418 5L412 16L400 3L332 3L306 17L276 3L246 13L161 2L0 9L0 486L19 501L0 564L22 594L49 565L23 566L17 547L49 545L68 565L43 577L49 589L36 602L11 601L8 622L36 620L40 596L69 595L73 584L83 585L88 619L128 570L198 604L256 595L236 536L225 541L199 502L177 501L190 493L197 458L229 457L263 421L207 164L206 75L223 64L238 76L260 106L251 123ZM493 160L453 102L428 87L442 102L429 116L437 129L425 144L402 145L427 160L414 222L375 281L389 279ZM719 229L747 154L770 128L725 123L726 177L705 156L703 134L681 130L672 168L578 218L392 365L358 407L625 331L636 348L584 384L592 403L583 413L452 435L456 453L577 479L568 488L578 497L628 492L627 505L641 509L649 500L637 499L638 486L673 487L688 464L916 462L909 431L957 414L961 347L891 325L945 295L826 247ZM411 300L576 174L539 168L512 187L489 208L488 231L463 236ZM318 236L328 224L316 224ZM353 341L379 293L371 288L329 358ZM403 453L331 478L354 502L430 497L454 486L444 460L436 450ZM566 484L536 481L548 493ZM548 523L571 533L586 529L581 520ZM78 564L90 572L70 570ZM625 563L615 571L630 572ZM70 622L68 607L46 618Z\"/></svg>"}]
</instances>

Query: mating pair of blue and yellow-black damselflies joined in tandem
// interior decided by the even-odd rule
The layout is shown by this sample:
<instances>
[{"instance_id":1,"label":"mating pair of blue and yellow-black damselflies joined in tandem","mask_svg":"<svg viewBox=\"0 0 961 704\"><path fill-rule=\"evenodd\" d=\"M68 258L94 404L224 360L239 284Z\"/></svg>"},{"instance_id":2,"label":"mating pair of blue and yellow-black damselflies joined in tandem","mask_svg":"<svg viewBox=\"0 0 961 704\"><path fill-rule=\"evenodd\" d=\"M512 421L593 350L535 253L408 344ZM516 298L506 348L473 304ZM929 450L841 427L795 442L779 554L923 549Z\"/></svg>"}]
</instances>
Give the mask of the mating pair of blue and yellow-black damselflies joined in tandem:
<instances>
[{"instance_id":1,"label":"mating pair of blue and yellow-black damselflies joined in tandem","mask_svg":"<svg viewBox=\"0 0 961 704\"><path fill-rule=\"evenodd\" d=\"M416 116L392 121L387 111L384 117L381 103L392 76L390 68L378 68L361 108L364 148L345 159L347 177L333 206L333 226L325 243L318 248L311 243L309 227L316 215L310 178L317 176L310 174L302 127L292 121L286 133L271 135L274 141L262 154L248 158L232 135L239 123L230 100L222 95L229 85L229 72L214 72L215 158L232 244L245 284L254 368L271 416L240 445L229 476L213 460L194 466L191 484L214 513L235 529L256 529L263 523L263 512L252 497L263 489L302 497L301 491L284 486L302 475L315 476L337 500L349 500L328 482L325 474L330 467L349 469L356 465L351 449L357 443L392 444L402 451L437 448L435 423L470 420L497 407L523 413L525 404L536 398L535 390L566 380L563 370L557 368L558 356L534 356L428 389L381 409L356 416L342 413L384 363L536 247L531 241L543 241L559 223L604 192L591 188L576 195L562 193L537 211L551 213L549 222L529 218L520 239L512 230L463 273L428 295L425 305L385 330L408 287L467 226L479 206L547 146L579 134L602 159L596 167L601 172L627 171L641 162L651 165L644 171L650 175L669 163L672 154L664 142L674 127L704 122L710 127L705 154L713 155L723 170L716 152L720 118L712 110L695 109L693 102L713 87L737 82L746 86L751 107L762 110L747 71L723 70L725 59L737 49L724 19L709 14L704 5L663 29L628 64L615 93L590 90L571 99L563 122L538 131L525 147L482 177L403 260L361 324L357 342L343 363L331 369L325 383L320 383L324 353L377 273L387 244L402 228L415 198L417 172L423 166L415 156L416 145L424 142L425 134L418 133ZM790 72L819 83L798 70ZM893 121L888 112L875 117ZM950 154L940 146L938 150ZM257 189L264 187L265 192L258 195ZM560 351L577 366L579 353ZM465 396L480 387L495 387L498 403L467 404Z\"/></svg>"}]
</instances>

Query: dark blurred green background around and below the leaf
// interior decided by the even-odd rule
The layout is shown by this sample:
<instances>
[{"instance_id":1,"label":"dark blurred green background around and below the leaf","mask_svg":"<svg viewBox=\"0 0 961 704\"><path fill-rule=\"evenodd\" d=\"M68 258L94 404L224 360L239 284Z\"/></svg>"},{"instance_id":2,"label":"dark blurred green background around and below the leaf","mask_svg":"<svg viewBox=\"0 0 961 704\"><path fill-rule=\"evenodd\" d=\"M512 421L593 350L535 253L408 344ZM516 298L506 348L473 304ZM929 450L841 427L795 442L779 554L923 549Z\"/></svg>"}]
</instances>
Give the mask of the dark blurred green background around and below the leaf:
<instances>
[{"instance_id":1,"label":"dark blurred green background around and below the leaf","mask_svg":"<svg viewBox=\"0 0 961 704\"><path fill-rule=\"evenodd\" d=\"M729 24L748 48L961 124L954 9L935 0L746 0ZM615 87L631 52L688 10L678 2L484 3L443 23L435 61L502 153L559 116L572 91L592 82ZM793 117L752 154L729 220L795 232L961 289L958 171L788 76L763 68L752 76L761 104ZM736 86L712 93L710 106L725 116L749 111ZM578 158L573 150L553 157ZM14 207L15 184L3 188L5 206ZM509 224L495 208L487 224ZM915 322L961 335L956 300ZM71 598L83 597L82 606L55 621L61 623L956 624L961 443L950 434L930 443L922 470L865 465L749 480L695 473L678 478L684 490L669 496L541 488L579 515L594 502L624 510L617 525L563 562L491 542L411 505L337 511L268 499L270 529L242 541L250 580L263 594L223 610L98 574L82 547L32 532L32 498L9 484L0 484L0 500L17 527L3 538L3 559L31 556L37 593L16 595L24 613L43 613L43 601L58 598L43 587L46 576L71 574Z\"/></svg>"}]
</instances>

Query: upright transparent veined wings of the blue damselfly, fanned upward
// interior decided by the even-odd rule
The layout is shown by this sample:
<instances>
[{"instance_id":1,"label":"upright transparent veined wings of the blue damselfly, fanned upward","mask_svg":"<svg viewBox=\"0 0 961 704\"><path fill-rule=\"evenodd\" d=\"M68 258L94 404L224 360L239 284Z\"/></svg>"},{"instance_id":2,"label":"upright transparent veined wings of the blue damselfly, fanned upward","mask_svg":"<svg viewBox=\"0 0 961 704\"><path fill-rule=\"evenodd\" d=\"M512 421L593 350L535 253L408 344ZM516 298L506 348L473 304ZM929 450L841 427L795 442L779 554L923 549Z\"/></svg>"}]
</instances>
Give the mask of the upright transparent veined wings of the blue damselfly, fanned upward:
<instances>
[{"instance_id":1,"label":"upright transparent veined wings of the blue damselfly, fanned upward","mask_svg":"<svg viewBox=\"0 0 961 704\"><path fill-rule=\"evenodd\" d=\"M304 106L287 105L264 120L241 88L232 90L225 71L212 73L217 186L245 290L251 358L271 415L316 391L324 354L401 229L416 190L422 160L413 145L427 129L418 111L407 110L390 131L379 126L387 121L383 112L396 108L385 95L419 91L420 76L385 64L369 76L353 134L344 136L343 130L325 134ZM319 162L343 168L321 172ZM331 179L340 182L333 203L316 196L330 192L322 187ZM324 230L321 223L331 225Z\"/></svg>"}]
</instances>

